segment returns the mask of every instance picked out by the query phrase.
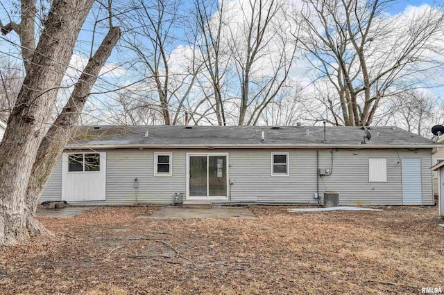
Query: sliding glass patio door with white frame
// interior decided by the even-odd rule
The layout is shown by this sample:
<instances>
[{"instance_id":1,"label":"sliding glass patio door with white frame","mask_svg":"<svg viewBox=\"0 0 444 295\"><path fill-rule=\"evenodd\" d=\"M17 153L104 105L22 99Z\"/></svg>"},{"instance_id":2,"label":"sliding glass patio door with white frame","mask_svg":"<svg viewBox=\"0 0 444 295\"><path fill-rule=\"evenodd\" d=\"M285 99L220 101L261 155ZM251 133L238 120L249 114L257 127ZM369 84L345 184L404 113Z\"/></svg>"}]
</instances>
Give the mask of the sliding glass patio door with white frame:
<instances>
[{"instance_id":1,"label":"sliding glass patio door with white frame","mask_svg":"<svg viewBox=\"0 0 444 295\"><path fill-rule=\"evenodd\" d=\"M189 155L189 197L227 198L227 154Z\"/></svg>"}]
</instances>

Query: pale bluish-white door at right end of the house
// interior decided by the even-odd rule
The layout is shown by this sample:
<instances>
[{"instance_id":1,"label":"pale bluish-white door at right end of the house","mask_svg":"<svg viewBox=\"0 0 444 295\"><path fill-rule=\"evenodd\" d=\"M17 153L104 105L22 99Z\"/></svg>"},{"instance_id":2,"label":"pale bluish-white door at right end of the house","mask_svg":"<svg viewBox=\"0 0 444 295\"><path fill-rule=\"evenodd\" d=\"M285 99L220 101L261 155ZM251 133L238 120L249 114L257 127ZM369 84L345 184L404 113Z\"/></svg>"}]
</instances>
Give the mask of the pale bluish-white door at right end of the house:
<instances>
[{"instance_id":1,"label":"pale bluish-white door at right end of the house","mask_svg":"<svg viewBox=\"0 0 444 295\"><path fill-rule=\"evenodd\" d=\"M402 159L402 204L422 205L421 159Z\"/></svg>"}]
</instances>

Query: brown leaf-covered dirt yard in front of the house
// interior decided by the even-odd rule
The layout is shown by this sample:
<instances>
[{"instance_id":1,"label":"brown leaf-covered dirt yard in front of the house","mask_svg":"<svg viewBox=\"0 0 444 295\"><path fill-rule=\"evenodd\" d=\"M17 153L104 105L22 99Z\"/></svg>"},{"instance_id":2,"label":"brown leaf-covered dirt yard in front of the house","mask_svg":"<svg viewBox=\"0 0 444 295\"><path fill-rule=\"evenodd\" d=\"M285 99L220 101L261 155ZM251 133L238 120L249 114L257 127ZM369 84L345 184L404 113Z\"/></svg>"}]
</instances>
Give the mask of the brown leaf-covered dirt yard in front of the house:
<instances>
[{"instance_id":1,"label":"brown leaf-covered dirt yard in front of the house","mask_svg":"<svg viewBox=\"0 0 444 295\"><path fill-rule=\"evenodd\" d=\"M0 294L419 294L444 290L437 208L150 220L156 207L40 218L54 238L0 249Z\"/></svg>"}]
</instances>

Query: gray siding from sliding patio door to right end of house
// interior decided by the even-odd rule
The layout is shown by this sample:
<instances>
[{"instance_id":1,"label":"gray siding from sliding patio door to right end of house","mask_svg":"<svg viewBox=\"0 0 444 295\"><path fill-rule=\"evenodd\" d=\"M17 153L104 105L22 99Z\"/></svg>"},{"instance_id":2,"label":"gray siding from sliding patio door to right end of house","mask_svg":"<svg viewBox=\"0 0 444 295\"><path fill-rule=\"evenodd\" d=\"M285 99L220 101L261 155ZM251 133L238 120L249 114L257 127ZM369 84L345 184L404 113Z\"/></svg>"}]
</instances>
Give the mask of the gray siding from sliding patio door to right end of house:
<instances>
[{"instance_id":1,"label":"gray siding from sliding patio door to right end of house","mask_svg":"<svg viewBox=\"0 0 444 295\"><path fill-rule=\"evenodd\" d=\"M270 150L230 152L232 202L314 203L317 193L316 150L279 150L289 152L288 177L271 176ZM341 205L401 205L402 175L398 161L421 159L423 204L433 204L430 150L319 151L319 168L332 168L332 175L319 179L319 193L336 190ZM399 154L399 158L398 158ZM368 181L368 158L387 159L387 181Z\"/></svg>"}]
</instances>

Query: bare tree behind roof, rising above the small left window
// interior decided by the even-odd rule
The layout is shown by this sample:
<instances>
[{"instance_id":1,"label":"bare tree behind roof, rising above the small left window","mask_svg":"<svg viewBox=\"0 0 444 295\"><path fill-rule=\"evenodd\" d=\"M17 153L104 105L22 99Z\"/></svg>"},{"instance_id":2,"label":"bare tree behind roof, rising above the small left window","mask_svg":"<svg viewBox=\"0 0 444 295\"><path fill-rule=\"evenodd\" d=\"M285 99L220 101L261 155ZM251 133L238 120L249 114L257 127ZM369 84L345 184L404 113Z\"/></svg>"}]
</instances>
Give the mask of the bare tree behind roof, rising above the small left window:
<instances>
[{"instance_id":1,"label":"bare tree behind roof, rising above the small left window","mask_svg":"<svg viewBox=\"0 0 444 295\"><path fill-rule=\"evenodd\" d=\"M132 0L130 3L133 12L125 21L130 29L124 41L137 55L140 66L135 69L149 78L142 89L157 93L163 123L176 125L201 67L195 62L194 46L184 48L184 53L178 53L175 46L179 39L176 31L185 30L187 23L186 18L178 13L180 2ZM186 33L183 35L186 36ZM182 60L173 60L175 53Z\"/></svg>"}]
</instances>

